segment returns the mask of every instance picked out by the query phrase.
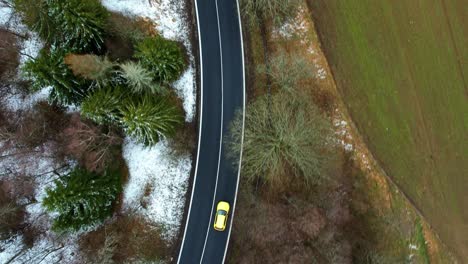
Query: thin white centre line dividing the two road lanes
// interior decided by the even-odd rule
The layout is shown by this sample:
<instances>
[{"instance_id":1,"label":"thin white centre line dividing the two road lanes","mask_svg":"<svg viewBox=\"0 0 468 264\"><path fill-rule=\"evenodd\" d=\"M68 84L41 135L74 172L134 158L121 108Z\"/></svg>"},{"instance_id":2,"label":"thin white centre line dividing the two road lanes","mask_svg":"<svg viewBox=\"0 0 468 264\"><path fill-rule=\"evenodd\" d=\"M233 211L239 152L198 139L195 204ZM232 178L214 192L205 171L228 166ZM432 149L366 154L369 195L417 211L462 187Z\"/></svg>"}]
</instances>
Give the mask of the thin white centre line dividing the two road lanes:
<instances>
[{"instance_id":1,"label":"thin white centre line dividing the two road lanes","mask_svg":"<svg viewBox=\"0 0 468 264\"><path fill-rule=\"evenodd\" d=\"M223 44L221 44L221 25L219 23L219 11L218 11L218 0L215 0L216 5L216 20L218 22L218 41L219 41L219 55L221 59L221 137L219 139L219 157L218 157L218 171L216 172L216 184L215 191L213 193L213 204L211 205L210 221L208 222L208 228L206 230L205 243L203 244L203 251L200 258L200 263L203 261L205 255L206 243L208 242L208 235L211 231L211 219L213 219L213 209L215 204L216 194L218 193L218 178L219 178L219 167L221 165L221 151L223 147L223 121L224 121L224 71L223 71Z\"/></svg>"}]
</instances>

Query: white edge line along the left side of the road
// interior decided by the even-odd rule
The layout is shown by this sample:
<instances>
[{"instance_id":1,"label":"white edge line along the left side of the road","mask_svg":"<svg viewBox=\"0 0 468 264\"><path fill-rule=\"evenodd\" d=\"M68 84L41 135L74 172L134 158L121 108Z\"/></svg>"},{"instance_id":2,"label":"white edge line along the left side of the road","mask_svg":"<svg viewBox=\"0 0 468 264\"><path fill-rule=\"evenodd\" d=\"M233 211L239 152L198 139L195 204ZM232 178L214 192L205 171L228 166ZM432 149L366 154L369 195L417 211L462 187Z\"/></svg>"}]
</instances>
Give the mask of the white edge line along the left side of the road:
<instances>
[{"instance_id":1,"label":"white edge line along the left side of the road","mask_svg":"<svg viewBox=\"0 0 468 264\"><path fill-rule=\"evenodd\" d=\"M192 201L193 201L193 194L195 193L195 186L197 183L197 175L198 175L198 160L200 157L200 144L201 144L201 135L202 135L202 124L203 124L203 56L202 56L202 41L201 41L201 31L200 31L200 19L198 17L198 5L197 0L195 2L195 10L197 16L197 28L198 28L198 45L199 45L199 52L200 52L200 122L199 122L199 133L198 133L198 149L197 149L197 161L195 162L195 176L193 179L193 186L192 186L192 194L190 196L190 205L189 211L187 215L187 221L185 222L185 229L184 229L184 236L182 238L182 245L179 251L179 257L177 258L177 264L180 263L180 257L182 255L182 251L185 245L185 237L187 236L187 227L190 220L190 212L192 211Z\"/></svg>"}]
</instances>

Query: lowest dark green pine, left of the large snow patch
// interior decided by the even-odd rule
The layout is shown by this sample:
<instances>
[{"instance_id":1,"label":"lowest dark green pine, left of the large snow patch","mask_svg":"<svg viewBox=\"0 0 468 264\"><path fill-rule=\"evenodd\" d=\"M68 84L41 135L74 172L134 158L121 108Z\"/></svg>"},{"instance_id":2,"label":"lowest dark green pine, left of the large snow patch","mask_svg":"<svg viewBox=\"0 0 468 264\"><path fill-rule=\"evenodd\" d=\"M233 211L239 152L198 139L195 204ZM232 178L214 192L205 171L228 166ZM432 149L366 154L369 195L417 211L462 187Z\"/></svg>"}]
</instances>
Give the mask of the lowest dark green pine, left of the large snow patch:
<instances>
[{"instance_id":1,"label":"lowest dark green pine, left of the large snow patch","mask_svg":"<svg viewBox=\"0 0 468 264\"><path fill-rule=\"evenodd\" d=\"M79 230L103 221L112 214L112 206L121 191L120 175L106 170L102 175L75 168L47 189L43 205L58 213L53 228Z\"/></svg>"}]
</instances>

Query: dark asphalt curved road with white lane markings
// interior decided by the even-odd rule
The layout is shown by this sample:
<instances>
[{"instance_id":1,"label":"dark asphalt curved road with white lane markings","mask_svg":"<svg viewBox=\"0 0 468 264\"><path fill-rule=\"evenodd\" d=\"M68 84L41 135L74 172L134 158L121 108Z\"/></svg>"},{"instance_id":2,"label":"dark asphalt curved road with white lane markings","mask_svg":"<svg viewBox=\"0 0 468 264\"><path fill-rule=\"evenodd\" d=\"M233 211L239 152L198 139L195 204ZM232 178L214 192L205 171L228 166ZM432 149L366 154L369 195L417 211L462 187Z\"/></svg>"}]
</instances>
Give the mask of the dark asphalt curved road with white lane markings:
<instances>
[{"instance_id":1,"label":"dark asphalt curved road with white lane markings","mask_svg":"<svg viewBox=\"0 0 468 264\"><path fill-rule=\"evenodd\" d=\"M237 110L245 110L244 54L236 0L195 0L201 63L198 155L177 263L223 263L231 234L239 168L223 139ZM239 142L242 144L242 142ZM241 159L242 153L238 153ZM213 229L218 201L231 204L224 232Z\"/></svg>"}]
</instances>

